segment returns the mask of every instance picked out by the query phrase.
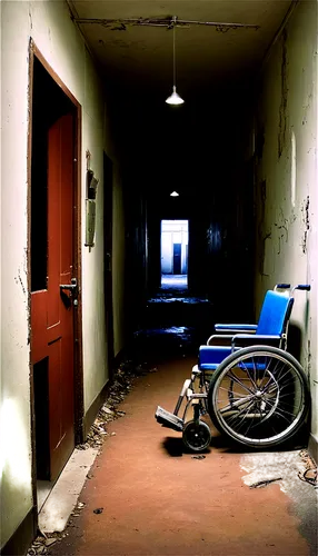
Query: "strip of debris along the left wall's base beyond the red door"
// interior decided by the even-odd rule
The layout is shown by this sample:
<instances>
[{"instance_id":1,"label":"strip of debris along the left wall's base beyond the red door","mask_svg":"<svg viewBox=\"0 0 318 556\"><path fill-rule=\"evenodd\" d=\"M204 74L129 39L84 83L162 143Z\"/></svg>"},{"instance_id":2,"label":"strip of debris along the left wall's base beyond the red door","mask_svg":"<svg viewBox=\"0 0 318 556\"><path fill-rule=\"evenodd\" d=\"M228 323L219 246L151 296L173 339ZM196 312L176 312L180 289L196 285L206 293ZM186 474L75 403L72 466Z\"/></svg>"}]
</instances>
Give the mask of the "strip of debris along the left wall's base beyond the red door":
<instances>
[{"instance_id":1,"label":"strip of debris along the left wall's base beyond the red door","mask_svg":"<svg viewBox=\"0 0 318 556\"><path fill-rule=\"evenodd\" d=\"M108 436L107 424L126 415L126 411L117 409L118 405L133 387L135 379L146 376L148 373L157 373L157 368L149 366L147 363L136 365L131 360L120 364L110 386L108 398L91 425L86 441L77 445L78 449L101 448L105 438ZM110 436L115 436L115 433L111 433Z\"/></svg>"}]
</instances>

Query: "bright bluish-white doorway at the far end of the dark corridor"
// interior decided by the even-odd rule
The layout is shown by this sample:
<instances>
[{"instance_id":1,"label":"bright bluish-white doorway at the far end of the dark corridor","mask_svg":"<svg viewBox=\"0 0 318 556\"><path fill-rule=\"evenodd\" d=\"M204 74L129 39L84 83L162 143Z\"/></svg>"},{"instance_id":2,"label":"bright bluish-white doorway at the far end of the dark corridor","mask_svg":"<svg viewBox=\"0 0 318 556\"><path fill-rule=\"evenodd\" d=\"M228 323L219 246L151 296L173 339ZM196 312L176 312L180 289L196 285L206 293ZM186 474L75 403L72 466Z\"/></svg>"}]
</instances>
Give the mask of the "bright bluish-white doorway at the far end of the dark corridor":
<instances>
[{"instance_id":1,"label":"bright bluish-white doorway at the far end of the dark corridor","mask_svg":"<svg viewBox=\"0 0 318 556\"><path fill-rule=\"evenodd\" d=\"M161 220L161 289L188 289L188 220Z\"/></svg>"}]
</instances>

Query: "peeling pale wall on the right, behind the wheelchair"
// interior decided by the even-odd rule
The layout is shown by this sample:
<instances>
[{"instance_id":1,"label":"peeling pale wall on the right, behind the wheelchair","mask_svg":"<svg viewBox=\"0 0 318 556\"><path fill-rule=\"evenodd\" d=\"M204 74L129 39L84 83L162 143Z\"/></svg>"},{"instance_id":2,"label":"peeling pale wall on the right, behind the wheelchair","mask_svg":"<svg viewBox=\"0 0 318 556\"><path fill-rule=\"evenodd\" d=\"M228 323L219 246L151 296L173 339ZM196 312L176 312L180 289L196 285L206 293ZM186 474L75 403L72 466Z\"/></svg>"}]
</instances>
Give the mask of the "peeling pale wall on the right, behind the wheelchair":
<instances>
[{"instance_id":1,"label":"peeling pale wall on the right, behind the wheelchair","mask_svg":"<svg viewBox=\"0 0 318 556\"><path fill-rule=\"evenodd\" d=\"M296 292L291 330L310 375L316 439L317 50L317 2L301 0L262 68L255 117L258 308L265 290L278 281L311 285L309 295Z\"/></svg>"}]
</instances>

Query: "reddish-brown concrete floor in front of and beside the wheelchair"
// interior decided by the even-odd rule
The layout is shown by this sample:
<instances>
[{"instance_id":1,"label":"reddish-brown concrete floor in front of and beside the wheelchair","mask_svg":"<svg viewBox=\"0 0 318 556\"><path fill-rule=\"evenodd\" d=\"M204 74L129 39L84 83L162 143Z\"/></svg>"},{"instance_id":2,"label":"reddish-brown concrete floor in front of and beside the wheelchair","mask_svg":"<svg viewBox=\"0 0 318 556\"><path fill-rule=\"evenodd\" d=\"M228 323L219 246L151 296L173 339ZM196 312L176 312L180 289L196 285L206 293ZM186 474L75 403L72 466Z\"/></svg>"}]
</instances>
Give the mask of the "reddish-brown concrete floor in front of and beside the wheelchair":
<instances>
[{"instance_id":1,"label":"reddish-brown concrete floor in front of and beside the wheelchair","mask_svg":"<svg viewBox=\"0 0 318 556\"><path fill-rule=\"evenodd\" d=\"M314 487L299 480L297 469L286 480L250 488L252 455L230 450L213 431L206 457L193 458L179 433L156 421L157 405L173 409L195 363L180 357L136 379L118 407L126 415L108 426L115 435L107 437L86 481L80 516L50 555L317 554ZM267 461L271 457L277 455L264 455ZM257 461L261 468L259 454Z\"/></svg>"}]
</instances>

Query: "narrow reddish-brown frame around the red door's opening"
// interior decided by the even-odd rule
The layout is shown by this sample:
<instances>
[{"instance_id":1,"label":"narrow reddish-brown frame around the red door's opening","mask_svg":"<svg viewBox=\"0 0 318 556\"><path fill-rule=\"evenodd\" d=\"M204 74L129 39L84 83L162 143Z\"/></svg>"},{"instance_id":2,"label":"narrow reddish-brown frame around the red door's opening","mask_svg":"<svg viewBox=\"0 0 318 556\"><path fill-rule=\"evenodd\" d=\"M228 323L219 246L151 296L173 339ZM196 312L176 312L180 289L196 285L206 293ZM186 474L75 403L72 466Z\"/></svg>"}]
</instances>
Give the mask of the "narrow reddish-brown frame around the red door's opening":
<instances>
[{"instance_id":1,"label":"narrow reddish-brown frame around the red door's opening","mask_svg":"<svg viewBox=\"0 0 318 556\"><path fill-rule=\"evenodd\" d=\"M82 368L82 306L81 306L81 105L70 92L63 81L48 63L33 39L29 43L29 89L28 89L28 158L27 158L27 270L28 270L28 327L31 334L31 160L32 160L32 96L33 96L33 67L37 59L63 93L69 98L74 110L74 230L73 230L73 271L79 285L79 304L74 312L74 445L83 440L83 368ZM30 346L30 337L29 337ZM36 416L34 416L34 391L33 369L31 365L31 349L29 353L30 368L30 413L31 413L31 447L32 447L32 493L33 507L37 506L37 459L36 459ZM36 516L38 515L34 512ZM37 519L37 517L34 517Z\"/></svg>"}]
</instances>

